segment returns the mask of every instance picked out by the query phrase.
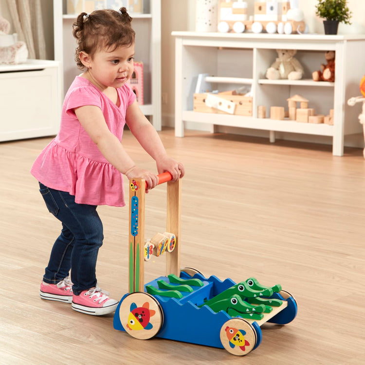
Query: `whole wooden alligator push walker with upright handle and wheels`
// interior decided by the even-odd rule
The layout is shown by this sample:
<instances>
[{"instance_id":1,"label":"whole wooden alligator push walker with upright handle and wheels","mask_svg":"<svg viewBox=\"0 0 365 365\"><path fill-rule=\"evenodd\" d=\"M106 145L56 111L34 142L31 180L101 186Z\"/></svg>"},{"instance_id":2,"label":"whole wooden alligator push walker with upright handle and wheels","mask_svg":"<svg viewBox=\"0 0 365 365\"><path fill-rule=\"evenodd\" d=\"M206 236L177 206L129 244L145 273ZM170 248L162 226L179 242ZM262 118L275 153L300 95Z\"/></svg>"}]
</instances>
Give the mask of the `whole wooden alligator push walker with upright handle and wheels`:
<instances>
[{"instance_id":1,"label":"whole wooden alligator push walker with upright handle and wheels","mask_svg":"<svg viewBox=\"0 0 365 365\"><path fill-rule=\"evenodd\" d=\"M235 283L192 268L180 270L181 180L167 182L166 232L145 242L145 186L131 179L129 188L129 292L114 314L114 329L146 340L160 337L225 348L243 356L262 341L260 326L284 325L297 313L297 304L280 285L266 287L255 278ZM166 256L166 274L144 284L144 264L150 255Z\"/></svg>"}]
</instances>

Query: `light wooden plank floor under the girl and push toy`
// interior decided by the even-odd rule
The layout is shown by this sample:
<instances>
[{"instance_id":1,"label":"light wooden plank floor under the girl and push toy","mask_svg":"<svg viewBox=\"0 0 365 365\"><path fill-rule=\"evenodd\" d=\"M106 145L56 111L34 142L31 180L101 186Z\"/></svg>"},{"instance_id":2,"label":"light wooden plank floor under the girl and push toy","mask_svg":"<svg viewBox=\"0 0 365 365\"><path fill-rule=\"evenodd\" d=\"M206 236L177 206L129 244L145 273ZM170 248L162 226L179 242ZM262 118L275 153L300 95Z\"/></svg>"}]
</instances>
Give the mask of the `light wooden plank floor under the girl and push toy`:
<instances>
[{"instance_id":1,"label":"light wooden plank floor under the girl and push toy","mask_svg":"<svg viewBox=\"0 0 365 365\"><path fill-rule=\"evenodd\" d=\"M113 316L88 316L39 298L59 223L29 170L50 138L0 144L0 364L364 364L365 159L362 150L190 131L160 133L183 178L182 267L205 275L279 283L298 303L295 320L264 324L245 357L163 339L136 340ZM153 161L130 132L124 145L140 166ZM146 198L146 237L165 228L165 187ZM102 206L105 240L99 285L128 292L128 208ZM164 258L146 263L146 281ZM194 331L194 326L191 327Z\"/></svg>"}]
</instances>

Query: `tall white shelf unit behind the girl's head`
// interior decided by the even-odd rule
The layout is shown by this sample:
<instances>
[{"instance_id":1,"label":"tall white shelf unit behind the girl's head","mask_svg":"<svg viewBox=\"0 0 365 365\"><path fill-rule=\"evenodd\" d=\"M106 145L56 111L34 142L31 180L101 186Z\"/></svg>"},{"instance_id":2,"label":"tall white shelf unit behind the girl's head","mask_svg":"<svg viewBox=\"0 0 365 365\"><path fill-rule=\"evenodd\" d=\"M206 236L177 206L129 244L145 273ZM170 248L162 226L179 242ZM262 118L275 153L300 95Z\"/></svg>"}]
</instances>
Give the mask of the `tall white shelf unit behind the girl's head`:
<instances>
[{"instance_id":1,"label":"tall white shelf unit behind the girl's head","mask_svg":"<svg viewBox=\"0 0 365 365\"><path fill-rule=\"evenodd\" d=\"M74 61L76 41L72 35L77 15L66 14L66 2L53 0L55 60L62 65L63 95L81 73ZM144 67L144 105L140 107L156 130L161 130L161 0L144 0L144 11L129 14L136 32L135 60L142 61Z\"/></svg>"}]
</instances>

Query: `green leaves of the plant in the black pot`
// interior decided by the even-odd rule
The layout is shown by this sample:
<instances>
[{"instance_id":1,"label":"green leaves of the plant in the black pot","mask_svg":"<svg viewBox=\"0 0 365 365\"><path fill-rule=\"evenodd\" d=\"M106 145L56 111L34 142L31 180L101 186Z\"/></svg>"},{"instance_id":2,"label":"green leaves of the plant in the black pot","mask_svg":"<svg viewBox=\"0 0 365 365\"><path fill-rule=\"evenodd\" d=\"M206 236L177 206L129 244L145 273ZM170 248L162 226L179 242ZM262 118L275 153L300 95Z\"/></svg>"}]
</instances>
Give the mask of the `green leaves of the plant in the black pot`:
<instances>
[{"instance_id":1,"label":"green leaves of the plant in the black pot","mask_svg":"<svg viewBox=\"0 0 365 365\"><path fill-rule=\"evenodd\" d=\"M347 0L318 0L315 13L320 18L351 24L352 12L347 6Z\"/></svg>"}]
</instances>

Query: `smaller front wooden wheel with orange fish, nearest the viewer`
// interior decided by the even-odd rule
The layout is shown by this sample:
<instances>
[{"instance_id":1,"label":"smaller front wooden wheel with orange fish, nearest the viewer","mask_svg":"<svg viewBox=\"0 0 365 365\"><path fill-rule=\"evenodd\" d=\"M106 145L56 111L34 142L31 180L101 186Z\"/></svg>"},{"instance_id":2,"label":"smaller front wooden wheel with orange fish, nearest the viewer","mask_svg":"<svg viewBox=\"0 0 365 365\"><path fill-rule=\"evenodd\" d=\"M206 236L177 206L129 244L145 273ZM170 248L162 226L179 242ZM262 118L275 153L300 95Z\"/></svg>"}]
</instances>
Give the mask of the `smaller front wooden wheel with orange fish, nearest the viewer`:
<instances>
[{"instance_id":1,"label":"smaller front wooden wheel with orange fish, nearest the viewer","mask_svg":"<svg viewBox=\"0 0 365 365\"><path fill-rule=\"evenodd\" d=\"M233 355L247 355L256 346L257 335L254 327L243 318L232 318L220 329L220 342Z\"/></svg>"}]
</instances>

